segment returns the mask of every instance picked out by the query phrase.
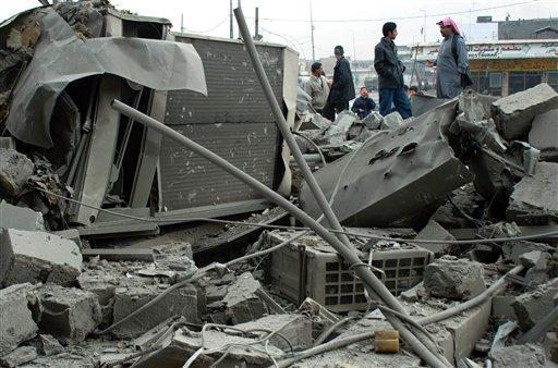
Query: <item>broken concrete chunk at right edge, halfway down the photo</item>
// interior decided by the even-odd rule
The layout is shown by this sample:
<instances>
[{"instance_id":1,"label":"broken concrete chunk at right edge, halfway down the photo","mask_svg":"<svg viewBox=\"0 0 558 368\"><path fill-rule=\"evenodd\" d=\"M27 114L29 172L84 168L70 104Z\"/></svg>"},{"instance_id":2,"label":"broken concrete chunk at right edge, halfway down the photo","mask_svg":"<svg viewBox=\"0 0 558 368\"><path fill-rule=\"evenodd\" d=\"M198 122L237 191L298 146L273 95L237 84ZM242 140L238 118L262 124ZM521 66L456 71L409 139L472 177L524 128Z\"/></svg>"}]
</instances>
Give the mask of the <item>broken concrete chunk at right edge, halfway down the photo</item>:
<instances>
[{"instance_id":1,"label":"broken concrete chunk at right edge, halfway down the photo","mask_svg":"<svg viewBox=\"0 0 558 368\"><path fill-rule=\"evenodd\" d=\"M544 212L558 216L558 163L538 162L533 176L513 187L508 212Z\"/></svg>"}]
</instances>

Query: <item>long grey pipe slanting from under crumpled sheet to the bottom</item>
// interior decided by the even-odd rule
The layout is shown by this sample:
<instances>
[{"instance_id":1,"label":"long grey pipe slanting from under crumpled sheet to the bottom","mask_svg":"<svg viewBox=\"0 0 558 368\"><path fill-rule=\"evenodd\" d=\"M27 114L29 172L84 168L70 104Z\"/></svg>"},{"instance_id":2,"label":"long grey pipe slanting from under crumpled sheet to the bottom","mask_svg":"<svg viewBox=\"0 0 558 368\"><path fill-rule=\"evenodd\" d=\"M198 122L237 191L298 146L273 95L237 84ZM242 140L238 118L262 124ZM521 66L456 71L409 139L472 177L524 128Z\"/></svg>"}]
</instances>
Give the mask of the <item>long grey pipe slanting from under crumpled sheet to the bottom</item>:
<instances>
[{"instance_id":1,"label":"long grey pipe slanting from under crumpled sheet to the bottom","mask_svg":"<svg viewBox=\"0 0 558 368\"><path fill-rule=\"evenodd\" d=\"M198 145L197 143L193 142L192 139L183 136L179 132L170 128L169 126L158 122L157 120L153 119L151 116L148 116L130 106L122 103L119 100L113 100L111 103L112 108L120 113L134 119L136 122L144 124L145 126L153 128L154 131L169 137L172 140L175 140L193 151L194 154L205 158L209 162L216 164L217 167L221 168L226 172L230 173L234 177L243 181L248 186L254 188L256 192L262 194L263 196L267 197L268 199L272 200L283 209L286 209L288 212L292 213L294 217L296 217L302 223L304 223L306 226L311 228L318 236L324 238L327 243L329 243L342 257L349 265L361 265L362 267L355 267L355 273L361 278L364 285L369 289L369 292L373 293L374 290L376 290L377 285L376 282L381 285L383 289L386 290L386 292L393 298L393 296L387 291L387 289L381 284L381 282L372 273L372 271L365 267L366 265L363 263L359 257L356 256L355 252L352 248L345 247L343 243L341 243L340 240L338 240L332 233L330 233L326 228L324 228L322 224L316 222L312 217L306 214L303 210L301 210L299 207L291 204L289 200L283 198L278 193L274 192L272 189L268 188L266 185L262 184L254 177L250 176L242 170L238 169L236 167L232 165L230 162L221 158L220 156L214 154L209 149ZM398 306L401 307L401 305L398 303ZM402 307L401 307L402 308ZM392 308L396 309L396 308ZM407 315L407 312L403 310L403 312ZM407 343L413 348L413 351L421 356L428 365L433 367L446 367L442 360L440 360L434 353L432 353L424 343L422 343L416 336L414 336L411 331L409 331L399 319L386 316L388 321L393 326L395 329L397 329L403 340L407 341Z\"/></svg>"}]
</instances>

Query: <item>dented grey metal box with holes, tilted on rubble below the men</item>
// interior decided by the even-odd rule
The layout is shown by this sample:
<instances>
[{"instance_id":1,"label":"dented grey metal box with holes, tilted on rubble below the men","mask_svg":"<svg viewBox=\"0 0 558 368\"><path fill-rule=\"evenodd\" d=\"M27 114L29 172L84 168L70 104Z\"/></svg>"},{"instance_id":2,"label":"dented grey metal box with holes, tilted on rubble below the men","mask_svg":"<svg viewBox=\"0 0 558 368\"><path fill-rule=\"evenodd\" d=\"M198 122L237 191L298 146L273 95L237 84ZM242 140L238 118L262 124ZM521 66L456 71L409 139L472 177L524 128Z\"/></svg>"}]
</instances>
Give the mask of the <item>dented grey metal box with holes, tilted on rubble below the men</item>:
<instances>
[{"instance_id":1,"label":"dented grey metal box with holes, tilted on rubble below the men","mask_svg":"<svg viewBox=\"0 0 558 368\"><path fill-rule=\"evenodd\" d=\"M426 221L446 196L472 181L456 158L447 130L456 116L457 100L378 135L349 164L332 209L340 221L356 226L413 226ZM351 155L315 173L327 198ZM301 204L313 218L322 214L307 185Z\"/></svg>"}]
</instances>

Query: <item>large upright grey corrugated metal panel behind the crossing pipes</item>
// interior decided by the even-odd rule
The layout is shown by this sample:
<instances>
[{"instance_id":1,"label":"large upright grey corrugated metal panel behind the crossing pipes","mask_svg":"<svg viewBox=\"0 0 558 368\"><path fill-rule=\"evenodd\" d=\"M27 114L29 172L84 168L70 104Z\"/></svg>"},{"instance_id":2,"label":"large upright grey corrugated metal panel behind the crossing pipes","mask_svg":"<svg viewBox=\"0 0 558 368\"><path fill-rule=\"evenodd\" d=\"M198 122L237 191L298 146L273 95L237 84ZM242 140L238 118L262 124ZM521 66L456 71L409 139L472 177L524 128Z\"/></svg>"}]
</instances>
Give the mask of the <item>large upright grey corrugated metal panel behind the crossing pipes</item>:
<instances>
[{"instance_id":1,"label":"large upright grey corrugated metal panel behind the crossing pipes","mask_svg":"<svg viewBox=\"0 0 558 368\"><path fill-rule=\"evenodd\" d=\"M165 123L229 160L267 186L274 185L278 132L262 87L241 44L180 38L204 63L208 96L169 91ZM276 97L282 98L282 50L258 51ZM161 192L168 210L218 205L260 196L242 182L163 138Z\"/></svg>"}]
</instances>

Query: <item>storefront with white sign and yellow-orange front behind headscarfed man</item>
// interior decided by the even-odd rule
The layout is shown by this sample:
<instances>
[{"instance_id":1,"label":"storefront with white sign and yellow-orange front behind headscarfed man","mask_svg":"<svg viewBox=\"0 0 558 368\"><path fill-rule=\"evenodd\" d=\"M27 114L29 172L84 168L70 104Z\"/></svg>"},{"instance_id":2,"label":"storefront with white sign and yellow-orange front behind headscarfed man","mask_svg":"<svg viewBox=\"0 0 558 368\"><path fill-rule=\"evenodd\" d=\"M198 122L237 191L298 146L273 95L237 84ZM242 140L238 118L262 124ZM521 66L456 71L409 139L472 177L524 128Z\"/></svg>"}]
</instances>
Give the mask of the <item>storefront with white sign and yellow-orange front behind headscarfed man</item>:
<instances>
[{"instance_id":1,"label":"storefront with white sign and yellow-orange front behind headscarfed man","mask_svg":"<svg viewBox=\"0 0 558 368\"><path fill-rule=\"evenodd\" d=\"M413 51L417 61L426 61L437 58L438 48L427 44ZM558 40L469 42L468 50L473 88L482 94L508 96L543 82L558 90Z\"/></svg>"}]
</instances>

